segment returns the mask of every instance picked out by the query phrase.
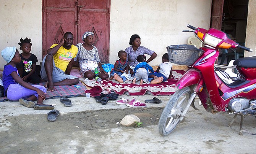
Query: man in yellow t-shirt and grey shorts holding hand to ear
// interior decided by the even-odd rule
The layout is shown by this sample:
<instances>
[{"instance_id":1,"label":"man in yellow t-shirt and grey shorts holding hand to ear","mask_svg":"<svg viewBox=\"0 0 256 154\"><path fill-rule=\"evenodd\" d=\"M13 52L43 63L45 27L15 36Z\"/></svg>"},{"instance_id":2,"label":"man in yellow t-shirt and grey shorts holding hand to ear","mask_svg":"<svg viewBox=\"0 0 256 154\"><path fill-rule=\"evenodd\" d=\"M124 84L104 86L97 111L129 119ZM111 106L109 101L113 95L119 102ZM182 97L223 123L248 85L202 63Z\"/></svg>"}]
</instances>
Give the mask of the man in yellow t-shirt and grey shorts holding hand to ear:
<instances>
[{"instance_id":1,"label":"man in yellow t-shirt and grey shorts holding hand to ear","mask_svg":"<svg viewBox=\"0 0 256 154\"><path fill-rule=\"evenodd\" d=\"M73 45L73 40L73 34L66 32L60 44L53 44L47 50L47 55L43 59L41 77L48 81L45 87L48 87L49 91L54 91L54 86L71 86L79 83L76 76L70 75L78 52L78 48Z\"/></svg>"}]
</instances>

